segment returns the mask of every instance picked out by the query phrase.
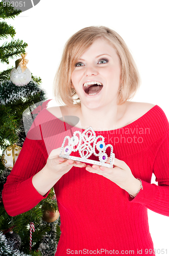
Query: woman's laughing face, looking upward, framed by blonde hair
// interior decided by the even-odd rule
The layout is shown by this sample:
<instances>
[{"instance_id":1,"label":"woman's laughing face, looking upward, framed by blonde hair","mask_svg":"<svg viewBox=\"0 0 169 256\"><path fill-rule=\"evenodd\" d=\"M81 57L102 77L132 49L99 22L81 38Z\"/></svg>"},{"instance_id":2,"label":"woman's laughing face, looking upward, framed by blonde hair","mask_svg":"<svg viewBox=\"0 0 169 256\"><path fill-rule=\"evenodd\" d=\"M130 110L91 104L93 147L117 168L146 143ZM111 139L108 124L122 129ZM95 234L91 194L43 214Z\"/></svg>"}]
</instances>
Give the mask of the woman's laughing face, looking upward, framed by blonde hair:
<instances>
[{"instance_id":1,"label":"woman's laughing face, looking upward, framed by blonde hair","mask_svg":"<svg viewBox=\"0 0 169 256\"><path fill-rule=\"evenodd\" d=\"M71 80L81 104L97 109L117 104L120 75L116 50L98 38L77 60Z\"/></svg>"}]
</instances>

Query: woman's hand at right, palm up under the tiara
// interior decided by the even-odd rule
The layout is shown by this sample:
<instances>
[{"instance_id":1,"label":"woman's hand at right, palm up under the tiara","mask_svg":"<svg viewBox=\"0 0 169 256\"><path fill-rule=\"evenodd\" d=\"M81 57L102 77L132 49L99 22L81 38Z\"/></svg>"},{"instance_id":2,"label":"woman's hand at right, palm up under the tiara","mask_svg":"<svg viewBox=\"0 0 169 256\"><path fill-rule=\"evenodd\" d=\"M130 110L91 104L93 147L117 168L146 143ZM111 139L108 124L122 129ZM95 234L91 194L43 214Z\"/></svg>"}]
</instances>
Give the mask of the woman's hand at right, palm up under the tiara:
<instances>
[{"instance_id":1,"label":"woman's hand at right, palm up under the tiara","mask_svg":"<svg viewBox=\"0 0 169 256\"><path fill-rule=\"evenodd\" d=\"M110 163L109 158L106 163ZM117 158L115 158L114 168L99 165L87 165L86 170L104 176L118 186L125 189L129 194L135 196L140 188L140 181L134 178L129 166Z\"/></svg>"}]
</instances>

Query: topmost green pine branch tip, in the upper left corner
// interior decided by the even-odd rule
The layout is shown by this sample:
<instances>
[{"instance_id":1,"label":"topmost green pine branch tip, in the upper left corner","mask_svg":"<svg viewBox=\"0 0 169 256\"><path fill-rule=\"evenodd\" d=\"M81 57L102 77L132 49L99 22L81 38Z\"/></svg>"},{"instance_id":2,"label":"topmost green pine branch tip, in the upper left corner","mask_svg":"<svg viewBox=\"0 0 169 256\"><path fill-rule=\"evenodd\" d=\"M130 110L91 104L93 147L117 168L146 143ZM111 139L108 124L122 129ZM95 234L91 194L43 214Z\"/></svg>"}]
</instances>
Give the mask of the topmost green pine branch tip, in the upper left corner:
<instances>
[{"instance_id":1,"label":"topmost green pine branch tip, in the upper left corner","mask_svg":"<svg viewBox=\"0 0 169 256\"><path fill-rule=\"evenodd\" d=\"M0 18L14 18L22 12L21 10L16 10L14 7L7 3L5 4L4 2L5 1L0 3Z\"/></svg>"}]
</instances>

